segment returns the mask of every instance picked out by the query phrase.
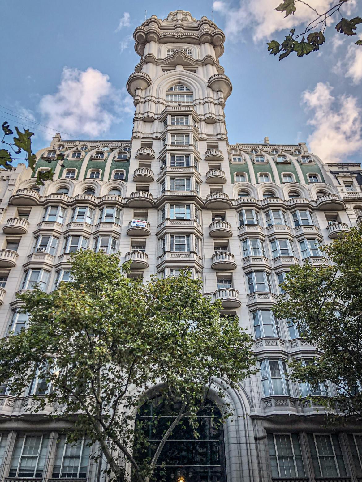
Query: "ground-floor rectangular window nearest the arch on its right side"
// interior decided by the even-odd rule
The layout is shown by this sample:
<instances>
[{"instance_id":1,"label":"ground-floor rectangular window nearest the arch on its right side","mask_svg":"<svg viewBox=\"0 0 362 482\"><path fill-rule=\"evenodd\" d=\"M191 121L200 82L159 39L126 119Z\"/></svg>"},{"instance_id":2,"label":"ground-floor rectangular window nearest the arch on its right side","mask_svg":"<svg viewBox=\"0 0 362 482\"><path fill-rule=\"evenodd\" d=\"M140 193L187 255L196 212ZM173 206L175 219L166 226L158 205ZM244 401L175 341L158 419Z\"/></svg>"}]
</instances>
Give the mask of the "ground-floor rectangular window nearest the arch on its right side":
<instances>
[{"instance_id":1,"label":"ground-floor rectangular window nearest the arch on its right side","mask_svg":"<svg viewBox=\"0 0 362 482\"><path fill-rule=\"evenodd\" d=\"M296 433L268 433L272 477L305 477L303 458Z\"/></svg>"}]
</instances>

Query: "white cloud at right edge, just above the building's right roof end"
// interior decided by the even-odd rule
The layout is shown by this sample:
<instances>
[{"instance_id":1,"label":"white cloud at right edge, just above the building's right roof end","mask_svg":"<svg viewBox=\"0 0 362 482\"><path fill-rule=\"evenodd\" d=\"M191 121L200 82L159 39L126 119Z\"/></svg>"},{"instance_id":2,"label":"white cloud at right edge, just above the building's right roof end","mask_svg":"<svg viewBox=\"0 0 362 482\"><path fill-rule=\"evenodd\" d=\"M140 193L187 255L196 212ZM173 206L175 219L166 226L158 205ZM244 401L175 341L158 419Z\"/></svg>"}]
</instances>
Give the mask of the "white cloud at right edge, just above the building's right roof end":
<instances>
[{"instance_id":1,"label":"white cloud at right edge, just above the building's right roof end","mask_svg":"<svg viewBox=\"0 0 362 482\"><path fill-rule=\"evenodd\" d=\"M332 95L333 87L319 82L302 94L314 128L307 142L310 151L325 162L345 161L362 148L362 109L352 95Z\"/></svg>"}]
</instances>

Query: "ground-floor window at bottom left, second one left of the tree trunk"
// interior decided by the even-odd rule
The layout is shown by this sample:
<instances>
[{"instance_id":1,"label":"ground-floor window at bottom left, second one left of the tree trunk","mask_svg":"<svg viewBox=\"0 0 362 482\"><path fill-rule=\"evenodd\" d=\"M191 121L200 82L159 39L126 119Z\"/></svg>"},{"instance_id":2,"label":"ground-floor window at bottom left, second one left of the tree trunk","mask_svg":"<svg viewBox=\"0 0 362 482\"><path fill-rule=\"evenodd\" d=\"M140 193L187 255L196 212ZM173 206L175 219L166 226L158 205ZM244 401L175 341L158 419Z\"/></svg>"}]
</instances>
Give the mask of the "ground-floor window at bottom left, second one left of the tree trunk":
<instances>
[{"instance_id":1,"label":"ground-floor window at bottom left, second one left of the tree trunk","mask_svg":"<svg viewBox=\"0 0 362 482\"><path fill-rule=\"evenodd\" d=\"M48 435L19 435L15 442L9 477L43 475Z\"/></svg>"}]
</instances>

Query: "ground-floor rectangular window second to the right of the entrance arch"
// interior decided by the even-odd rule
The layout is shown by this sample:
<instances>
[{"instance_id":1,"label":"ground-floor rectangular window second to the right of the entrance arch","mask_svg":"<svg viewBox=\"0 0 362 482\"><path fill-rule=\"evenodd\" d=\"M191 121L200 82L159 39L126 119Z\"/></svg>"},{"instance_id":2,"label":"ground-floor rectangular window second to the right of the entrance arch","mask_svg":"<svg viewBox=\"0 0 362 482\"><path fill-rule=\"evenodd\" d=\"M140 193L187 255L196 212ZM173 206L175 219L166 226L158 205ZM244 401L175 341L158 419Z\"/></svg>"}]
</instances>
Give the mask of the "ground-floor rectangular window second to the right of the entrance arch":
<instances>
[{"instance_id":1,"label":"ground-floor rectangular window second to the right of the entrance arch","mask_svg":"<svg viewBox=\"0 0 362 482\"><path fill-rule=\"evenodd\" d=\"M346 477L338 435L308 433L308 442L316 477Z\"/></svg>"}]
</instances>

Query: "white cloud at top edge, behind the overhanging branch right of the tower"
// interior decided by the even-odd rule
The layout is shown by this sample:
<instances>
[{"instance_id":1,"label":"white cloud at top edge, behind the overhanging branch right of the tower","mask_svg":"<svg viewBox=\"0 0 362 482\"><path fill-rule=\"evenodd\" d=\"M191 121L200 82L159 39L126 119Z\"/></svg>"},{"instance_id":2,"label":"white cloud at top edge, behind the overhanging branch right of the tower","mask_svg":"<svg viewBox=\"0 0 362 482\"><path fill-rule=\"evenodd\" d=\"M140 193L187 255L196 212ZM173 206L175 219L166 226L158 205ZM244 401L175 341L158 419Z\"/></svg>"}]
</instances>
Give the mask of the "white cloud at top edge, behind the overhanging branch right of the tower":
<instances>
[{"instance_id":1,"label":"white cloud at top edge, behind the overhanging branch right of the tower","mask_svg":"<svg viewBox=\"0 0 362 482\"><path fill-rule=\"evenodd\" d=\"M230 40L237 37L245 28L252 29L253 40L271 40L271 36L280 30L305 25L316 18L317 14L304 3L298 2L293 15L284 18L284 13L277 12L281 0L239 0L239 6L232 8L226 0L214 0L212 8L225 17L225 34ZM334 0L314 0L313 8L326 12Z\"/></svg>"}]
</instances>

